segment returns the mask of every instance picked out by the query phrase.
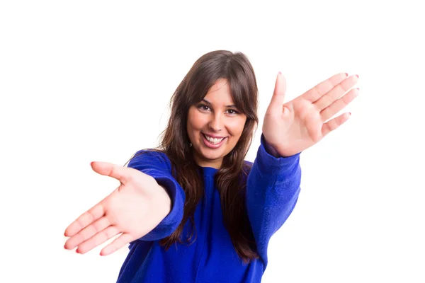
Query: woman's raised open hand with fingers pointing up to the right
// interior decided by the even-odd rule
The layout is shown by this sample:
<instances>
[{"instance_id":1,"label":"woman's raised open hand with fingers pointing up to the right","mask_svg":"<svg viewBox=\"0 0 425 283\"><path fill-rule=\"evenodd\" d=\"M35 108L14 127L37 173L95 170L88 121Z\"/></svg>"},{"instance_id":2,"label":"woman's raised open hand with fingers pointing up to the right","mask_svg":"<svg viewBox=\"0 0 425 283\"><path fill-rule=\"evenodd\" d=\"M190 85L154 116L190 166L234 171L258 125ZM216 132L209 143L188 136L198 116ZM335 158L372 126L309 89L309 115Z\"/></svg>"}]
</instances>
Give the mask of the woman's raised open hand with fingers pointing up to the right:
<instances>
[{"instance_id":1,"label":"woman's raised open hand with fingers pointing up to the right","mask_svg":"<svg viewBox=\"0 0 425 283\"><path fill-rule=\"evenodd\" d=\"M263 121L266 143L279 156L292 156L316 144L350 117L346 112L329 120L358 96L358 88L352 88L357 81L356 75L336 74L283 103L286 81L279 73Z\"/></svg>"}]
</instances>

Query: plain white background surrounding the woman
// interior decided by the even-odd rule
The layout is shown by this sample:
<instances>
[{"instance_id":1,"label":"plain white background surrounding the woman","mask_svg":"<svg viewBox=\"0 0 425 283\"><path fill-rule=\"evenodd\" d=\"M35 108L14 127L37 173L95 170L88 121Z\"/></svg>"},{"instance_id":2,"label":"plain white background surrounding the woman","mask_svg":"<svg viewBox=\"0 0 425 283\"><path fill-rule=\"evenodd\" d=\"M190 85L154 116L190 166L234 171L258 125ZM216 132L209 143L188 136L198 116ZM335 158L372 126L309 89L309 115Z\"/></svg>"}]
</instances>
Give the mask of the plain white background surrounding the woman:
<instances>
[{"instance_id":1,"label":"plain white background surrounding the woman","mask_svg":"<svg viewBox=\"0 0 425 283\"><path fill-rule=\"evenodd\" d=\"M302 153L263 282L425 282L421 4L140 2L0 2L0 282L115 282L128 248L63 249L117 185L89 164L156 146L171 93L218 49L251 59L261 122L278 71L287 100L360 76L351 119Z\"/></svg>"}]
</instances>

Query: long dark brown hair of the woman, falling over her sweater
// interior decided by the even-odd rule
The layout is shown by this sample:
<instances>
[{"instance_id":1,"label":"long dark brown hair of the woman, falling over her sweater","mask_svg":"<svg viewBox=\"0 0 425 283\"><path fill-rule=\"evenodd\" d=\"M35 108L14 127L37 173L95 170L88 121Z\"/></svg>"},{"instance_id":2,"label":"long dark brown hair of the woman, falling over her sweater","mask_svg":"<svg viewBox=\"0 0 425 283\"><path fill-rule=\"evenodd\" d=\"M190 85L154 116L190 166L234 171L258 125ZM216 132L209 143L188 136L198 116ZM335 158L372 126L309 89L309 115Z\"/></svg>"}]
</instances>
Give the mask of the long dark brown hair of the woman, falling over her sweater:
<instances>
[{"instance_id":1,"label":"long dark brown hair of the woman, falling over her sweater","mask_svg":"<svg viewBox=\"0 0 425 283\"><path fill-rule=\"evenodd\" d=\"M191 105L199 103L218 79L226 79L234 105L246 115L242 135L232 151L223 158L222 166L215 174L215 185L220 193L223 221L229 232L237 254L244 262L259 258L256 252L254 236L249 224L245 206L246 175L249 166L244 158L254 137L254 128L258 125L257 105L258 88L254 69L242 52L217 50L201 56L193 64L188 74L171 96L171 115L168 125L162 132L157 147L168 156L172 165L172 174L183 188L186 201L183 219L179 227L160 244L168 249L172 244L191 243L196 233L194 213L196 205L203 197L203 176L200 167L193 158L191 141L186 124ZM133 156L134 158L134 156ZM190 220L191 235L186 241L181 239L183 226Z\"/></svg>"}]
</instances>

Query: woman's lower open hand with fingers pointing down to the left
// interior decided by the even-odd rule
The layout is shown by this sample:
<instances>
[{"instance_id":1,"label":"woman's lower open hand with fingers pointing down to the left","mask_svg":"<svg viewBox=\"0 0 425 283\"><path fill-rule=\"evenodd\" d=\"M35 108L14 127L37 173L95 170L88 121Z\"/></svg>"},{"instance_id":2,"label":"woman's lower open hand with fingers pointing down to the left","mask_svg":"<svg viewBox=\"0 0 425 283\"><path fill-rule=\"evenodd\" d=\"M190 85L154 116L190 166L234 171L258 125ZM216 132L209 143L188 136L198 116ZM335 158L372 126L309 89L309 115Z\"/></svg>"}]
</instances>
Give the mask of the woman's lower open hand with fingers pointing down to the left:
<instances>
[{"instance_id":1,"label":"woman's lower open hand with fingers pointing down to the left","mask_svg":"<svg viewBox=\"0 0 425 283\"><path fill-rule=\"evenodd\" d=\"M91 168L96 173L119 180L121 184L67 227L64 235L70 238L64 248L72 250L78 247L77 253L87 253L120 234L101 250L101 255L109 255L145 236L169 214L169 195L151 176L133 168L104 162L92 162Z\"/></svg>"}]
</instances>

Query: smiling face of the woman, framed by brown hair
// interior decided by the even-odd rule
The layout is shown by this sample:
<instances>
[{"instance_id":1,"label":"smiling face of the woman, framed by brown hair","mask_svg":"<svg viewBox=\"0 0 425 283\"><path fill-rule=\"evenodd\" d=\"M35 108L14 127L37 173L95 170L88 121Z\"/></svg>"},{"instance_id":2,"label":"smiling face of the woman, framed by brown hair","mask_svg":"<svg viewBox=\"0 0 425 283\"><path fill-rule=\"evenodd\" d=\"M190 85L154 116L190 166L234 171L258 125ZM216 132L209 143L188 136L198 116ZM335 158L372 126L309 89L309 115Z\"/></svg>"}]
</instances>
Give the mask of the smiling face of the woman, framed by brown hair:
<instances>
[{"instance_id":1,"label":"smiling face of the woman, framed by brown hair","mask_svg":"<svg viewBox=\"0 0 425 283\"><path fill-rule=\"evenodd\" d=\"M219 79L188 112L188 136L199 166L220 168L241 137L246 115L234 106L227 80Z\"/></svg>"}]
</instances>

